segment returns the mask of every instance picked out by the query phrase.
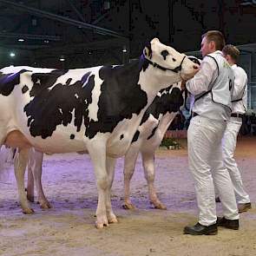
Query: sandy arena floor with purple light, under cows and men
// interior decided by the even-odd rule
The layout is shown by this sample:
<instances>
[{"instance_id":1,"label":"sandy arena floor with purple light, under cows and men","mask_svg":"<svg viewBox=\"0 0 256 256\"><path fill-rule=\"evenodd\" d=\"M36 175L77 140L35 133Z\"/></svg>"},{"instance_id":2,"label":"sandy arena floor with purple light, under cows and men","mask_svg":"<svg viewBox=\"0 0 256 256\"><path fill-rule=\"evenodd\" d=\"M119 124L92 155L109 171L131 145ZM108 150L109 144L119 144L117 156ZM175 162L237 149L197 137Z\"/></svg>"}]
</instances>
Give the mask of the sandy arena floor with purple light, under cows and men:
<instances>
[{"instance_id":1,"label":"sandy arena floor with purple light, under cows and men","mask_svg":"<svg viewBox=\"0 0 256 256\"><path fill-rule=\"evenodd\" d=\"M181 141L185 145L185 141ZM0 255L50 256L194 256L256 255L256 137L240 138L237 161L253 209L240 215L240 230L219 229L215 236L183 235L187 224L197 221L194 185L187 170L187 150L160 150L157 153L156 181L167 211L148 203L148 187L141 159L132 181L132 200L138 208L121 208L123 161L118 161L112 202L119 223L97 230L97 192L88 155L46 156L43 187L53 208L24 215L17 203L13 172L0 183ZM218 212L221 207L218 204Z\"/></svg>"}]
</instances>

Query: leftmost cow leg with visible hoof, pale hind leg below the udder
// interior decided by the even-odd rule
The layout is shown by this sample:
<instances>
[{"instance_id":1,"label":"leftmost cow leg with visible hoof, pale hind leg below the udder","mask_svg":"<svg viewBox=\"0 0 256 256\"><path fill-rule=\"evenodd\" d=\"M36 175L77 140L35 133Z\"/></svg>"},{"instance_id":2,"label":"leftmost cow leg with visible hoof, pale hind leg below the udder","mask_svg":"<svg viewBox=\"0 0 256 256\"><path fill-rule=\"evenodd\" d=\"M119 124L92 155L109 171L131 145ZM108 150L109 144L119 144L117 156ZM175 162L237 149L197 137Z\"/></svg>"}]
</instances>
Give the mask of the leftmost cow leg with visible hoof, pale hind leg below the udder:
<instances>
[{"instance_id":1,"label":"leftmost cow leg with visible hoof, pale hind leg below the udder","mask_svg":"<svg viewBox=\"0 0 256 256\"><path fill-rule=\"evenodd\" d=\"M23 213L31 214L31 213L34 213L34 210L30 208L30 203L27 200L27 196L25 193L25 186L24 186L24 174L25 174L28 158L29 158L29 149L28 148L19 149L19 153L16 154L16 158L14 161L14 169L15 169L19 200L21 203L21 207L23 208Z\"/></svg>"}]
</instances>

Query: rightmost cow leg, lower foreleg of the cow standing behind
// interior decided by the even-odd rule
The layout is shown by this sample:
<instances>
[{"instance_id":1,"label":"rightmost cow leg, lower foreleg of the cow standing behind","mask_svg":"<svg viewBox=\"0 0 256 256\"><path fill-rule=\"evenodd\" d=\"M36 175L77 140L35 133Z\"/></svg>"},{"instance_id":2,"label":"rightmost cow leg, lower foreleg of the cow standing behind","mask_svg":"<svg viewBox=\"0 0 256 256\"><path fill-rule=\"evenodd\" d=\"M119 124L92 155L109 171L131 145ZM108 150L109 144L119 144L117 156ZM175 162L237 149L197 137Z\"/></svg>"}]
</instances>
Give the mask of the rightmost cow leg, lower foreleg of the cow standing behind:
<instances>
[{"instance_id":1,"label":"rightmost cow leg, lower foreleg of the cow standing behind","mask_svg":"<svg viewBox=\"0 0 256 256\"><path fill-rule=\"evenodd\" d=\"M167 207L158 199L154 187L154 153L141 152L141 155L145 178L148 181L149 200L154 204L156 209L166 210Z\"/></svg>"}]
</instances>

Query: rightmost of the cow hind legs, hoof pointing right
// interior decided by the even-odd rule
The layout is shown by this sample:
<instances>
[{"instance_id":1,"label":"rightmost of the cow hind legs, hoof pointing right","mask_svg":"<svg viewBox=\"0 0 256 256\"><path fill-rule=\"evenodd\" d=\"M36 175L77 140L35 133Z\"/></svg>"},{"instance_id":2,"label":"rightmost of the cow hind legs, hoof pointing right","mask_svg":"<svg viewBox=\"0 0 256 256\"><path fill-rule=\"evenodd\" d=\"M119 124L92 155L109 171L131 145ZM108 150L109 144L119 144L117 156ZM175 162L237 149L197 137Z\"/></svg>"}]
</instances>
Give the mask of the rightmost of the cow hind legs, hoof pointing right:
<instances>
[{"instance_id":1,"label":"rightmost of the cow hind legs, hoof pointing right","mask_svg":"<svg viewBox=\"0 0 256 256\"><path fill-rule=\"evenodd\" d=\"M34 148L30 151L30 162L28 171L32 172L36 184L36 194L38 202L42 209L49 209L51 205L43 193L42 187L42 166L43 166L43 153L36 151Z\"/></svg>"}]
</instances>

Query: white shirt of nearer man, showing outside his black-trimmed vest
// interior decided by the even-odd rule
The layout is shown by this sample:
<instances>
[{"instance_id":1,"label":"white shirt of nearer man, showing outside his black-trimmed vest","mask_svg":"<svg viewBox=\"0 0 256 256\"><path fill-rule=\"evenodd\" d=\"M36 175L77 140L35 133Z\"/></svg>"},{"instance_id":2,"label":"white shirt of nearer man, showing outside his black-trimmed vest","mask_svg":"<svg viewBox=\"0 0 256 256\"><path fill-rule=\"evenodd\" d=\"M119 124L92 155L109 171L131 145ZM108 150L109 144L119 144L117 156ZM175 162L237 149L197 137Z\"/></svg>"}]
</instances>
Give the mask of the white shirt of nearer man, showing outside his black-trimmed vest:
<instances>
[{"instance_id":1,"label":"white shirt of nearer man, showing outside his black-trimmed vest","mask_svg":"<svg viewBox=\"0 0 256 256\"><path fill-rule=\"evenodd\" d=\"M222 56L220 50L215 51L213 54ZM221 69L221 67L219 67ZM187 81L187 90L192 95L200 95L207 92L212 87L212 82L218 77L218 67L213 58L205 56L200 64L200 70L194 75L194 77ZM213 120L229 120L230 109L226 106L213 102L212 94L200 98L194 103L192 111L198 115L207 117Z\"/></svg>"}]
</instances>

